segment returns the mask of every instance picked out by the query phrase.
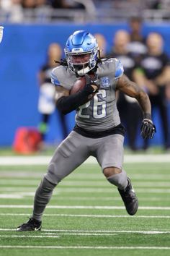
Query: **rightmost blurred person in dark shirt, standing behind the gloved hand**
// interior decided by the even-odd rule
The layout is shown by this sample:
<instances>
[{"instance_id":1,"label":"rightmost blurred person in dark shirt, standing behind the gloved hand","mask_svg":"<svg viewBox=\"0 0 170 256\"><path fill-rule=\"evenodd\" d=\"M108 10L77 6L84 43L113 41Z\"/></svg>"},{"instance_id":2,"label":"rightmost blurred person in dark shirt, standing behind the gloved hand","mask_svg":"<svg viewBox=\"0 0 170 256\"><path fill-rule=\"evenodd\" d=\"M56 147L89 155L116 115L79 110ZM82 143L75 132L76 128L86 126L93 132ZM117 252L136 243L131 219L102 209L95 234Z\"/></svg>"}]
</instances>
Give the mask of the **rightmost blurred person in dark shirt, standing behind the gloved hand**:
<instances>
[{"instance_id":1,"label":"rightmost blurred person in dark shirt, standing behind the gloved hand","mask_svg":"<svg viewBox=\"0 0 170 256\"><path fill-rule=\"evenodd\" d=\"M169 125L166 101L166 85L170 82L169 57L164 52L164 40L158 33L149 33L146 44L148 54L140 61L140 69L135 72L138 85L145 85L152 108L157 107L160 113L164 149L169 149ZM148 140L144 149L148 148Z\"/></svg>"}]
</instances>

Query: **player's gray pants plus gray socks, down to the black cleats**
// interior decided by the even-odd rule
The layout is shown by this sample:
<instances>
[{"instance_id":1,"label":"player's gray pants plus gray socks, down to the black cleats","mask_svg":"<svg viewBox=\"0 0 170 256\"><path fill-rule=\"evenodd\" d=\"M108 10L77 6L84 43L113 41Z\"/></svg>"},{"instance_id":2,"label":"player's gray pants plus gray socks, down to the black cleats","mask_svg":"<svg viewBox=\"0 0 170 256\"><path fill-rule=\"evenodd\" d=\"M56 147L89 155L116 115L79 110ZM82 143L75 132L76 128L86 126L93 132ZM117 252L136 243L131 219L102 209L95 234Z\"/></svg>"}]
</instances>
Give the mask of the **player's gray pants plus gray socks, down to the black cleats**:
<instances>
[{"instance_id":1,"label":"player's gray pants plus gray socks, down to the black cleats","mask_svg":"<svg viewBox=\"0 0 170 256\"><path fill-rule=\"evenodd\" d=\"M50 201L53 189L64 177L83 163L90 155L97 158L102 170L106 167L122 169L123 161L122 135L109 135L99 139L91 139L71 132L55 150L53 158L48 166L48 173L35 193L35 202L32 217L41 221L42 213ZM125 188L127 176L125 171L108 178L108 181L119 187Z\"/></svg>"}]
</instances>

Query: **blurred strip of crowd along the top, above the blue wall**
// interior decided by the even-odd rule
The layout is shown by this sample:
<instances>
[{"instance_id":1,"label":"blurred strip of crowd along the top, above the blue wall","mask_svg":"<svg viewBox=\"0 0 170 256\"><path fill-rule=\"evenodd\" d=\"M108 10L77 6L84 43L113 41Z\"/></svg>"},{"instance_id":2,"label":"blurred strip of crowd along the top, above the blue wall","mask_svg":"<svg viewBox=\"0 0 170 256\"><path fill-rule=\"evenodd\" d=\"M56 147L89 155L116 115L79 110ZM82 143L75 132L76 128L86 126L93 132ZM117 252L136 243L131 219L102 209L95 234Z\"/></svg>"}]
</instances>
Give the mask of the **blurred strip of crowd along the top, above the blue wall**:
<instances>
[{"instance_id":1,"label":"blurred strip of crowd along the top, above the blue wall","mask_svg":"<svg viewBox=\"0 0 170 256\"><path fill-rule=\"evenodd\" d=\"M170 19L169 4L170 0L0 0L0 21L35 22L35 17L43 17L43 22L61 19L107 22L125 19L134 12L145 18Z\"/></svg>"}]
</instances>

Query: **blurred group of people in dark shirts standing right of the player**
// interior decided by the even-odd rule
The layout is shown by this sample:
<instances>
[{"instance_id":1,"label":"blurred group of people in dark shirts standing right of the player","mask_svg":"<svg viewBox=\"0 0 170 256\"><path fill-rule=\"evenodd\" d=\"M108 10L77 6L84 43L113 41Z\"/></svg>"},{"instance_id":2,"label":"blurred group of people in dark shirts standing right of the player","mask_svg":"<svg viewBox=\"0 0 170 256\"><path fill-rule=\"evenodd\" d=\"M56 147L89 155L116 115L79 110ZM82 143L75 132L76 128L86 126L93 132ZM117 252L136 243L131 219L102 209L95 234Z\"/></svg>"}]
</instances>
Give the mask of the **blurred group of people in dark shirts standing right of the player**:
<instances>
[{"instance_id":1,"label":"blurred group of people in dark shirts standing right of the player","mask_svg":"<svg viewBox=\"0 0 170 256\"><path fill-rule=\"evenodd\" d=\"M102 34L96 34L100 55L116 57L123 64L125 74L141 88L147 91L153 109L157 108L163 135L164 150L170 149L168 103L170 102L170 59L164 52L164 38L159 33L149 33L143 38L141 33L142 20L132 17L129 31L117 30L112 40L112 50L107 52L107 41ZM140 122L143 114L134 98L127 95L117 95L117 108L120 119L125 125L128 135L128 145L131 150L147 150L148 140L137 145ZM156 111L153 111L156 113ZM155 116L153 116L153 120Z\"/></svg>"}]
</instances>

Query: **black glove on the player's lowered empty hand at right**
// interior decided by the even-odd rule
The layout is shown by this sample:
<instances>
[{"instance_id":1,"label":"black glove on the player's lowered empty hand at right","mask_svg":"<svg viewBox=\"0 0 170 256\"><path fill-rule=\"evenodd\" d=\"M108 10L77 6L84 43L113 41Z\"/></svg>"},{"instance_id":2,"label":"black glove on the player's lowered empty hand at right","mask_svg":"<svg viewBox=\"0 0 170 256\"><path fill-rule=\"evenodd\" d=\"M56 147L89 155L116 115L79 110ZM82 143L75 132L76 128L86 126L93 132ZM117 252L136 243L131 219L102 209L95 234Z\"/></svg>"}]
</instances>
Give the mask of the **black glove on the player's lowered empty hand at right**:
<instances>
[{"instance_id":1,"label":"black glove on the player's lowered empty hand at right","mask_svg":"<svg viewBox=\"0 0 170 256\"><path fill-rule=\"evenodd\" d=\"M152 139L156 132L156 127L151 119L143 119L140 127L140 135L143 139Z\"/></svg>"}]
</instances>

